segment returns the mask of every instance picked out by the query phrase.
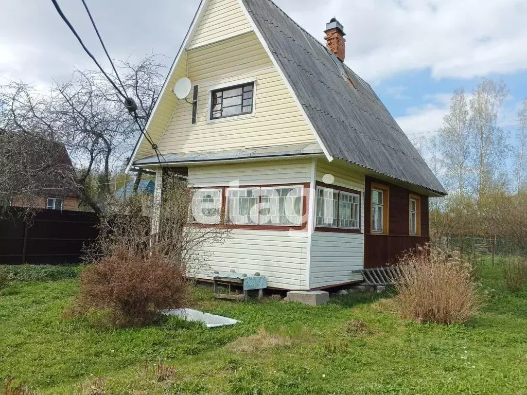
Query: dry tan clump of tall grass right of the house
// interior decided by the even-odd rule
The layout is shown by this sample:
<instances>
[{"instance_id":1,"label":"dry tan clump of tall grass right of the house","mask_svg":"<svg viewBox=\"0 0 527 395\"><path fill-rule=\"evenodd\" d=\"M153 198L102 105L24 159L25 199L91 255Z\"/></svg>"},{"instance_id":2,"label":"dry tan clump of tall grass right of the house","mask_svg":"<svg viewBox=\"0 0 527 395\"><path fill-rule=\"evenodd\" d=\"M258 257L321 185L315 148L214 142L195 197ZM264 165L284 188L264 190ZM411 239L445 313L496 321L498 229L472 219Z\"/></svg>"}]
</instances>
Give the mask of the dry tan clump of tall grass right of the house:
<instances>
[{"instance_id":1,"label":"dry tan clump of tall grass right of the house","mask_svg":"<svg viewBox=\"0 0 527 395\"><path fill-rule=\"evenodd\" d=\"M404 318L417 322L465 323L482 307L470 264L460 254L420 247L399 261L395 285Z\"/></svg>"}]
</instances>

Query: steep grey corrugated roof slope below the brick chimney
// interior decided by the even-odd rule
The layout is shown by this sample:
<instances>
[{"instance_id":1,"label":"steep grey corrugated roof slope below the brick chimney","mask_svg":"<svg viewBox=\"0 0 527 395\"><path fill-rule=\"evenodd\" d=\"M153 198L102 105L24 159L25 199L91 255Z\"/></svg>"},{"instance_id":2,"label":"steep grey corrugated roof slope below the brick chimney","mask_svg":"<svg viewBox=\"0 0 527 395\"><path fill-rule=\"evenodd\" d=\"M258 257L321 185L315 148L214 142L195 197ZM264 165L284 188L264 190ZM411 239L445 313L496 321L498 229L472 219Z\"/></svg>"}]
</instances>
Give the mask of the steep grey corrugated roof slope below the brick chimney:
<instances>
[{"instance_id":1,"label":"steep grey corrugated roof slope below the brick chimney","mask_svg":"<svg viewBox=\"0 0 527 395\"><path fill-rule=\"evenodd\" d=\"M270 0L242 0L331 156L446 194L372 87Z\"/></svg>"}]
</instances>

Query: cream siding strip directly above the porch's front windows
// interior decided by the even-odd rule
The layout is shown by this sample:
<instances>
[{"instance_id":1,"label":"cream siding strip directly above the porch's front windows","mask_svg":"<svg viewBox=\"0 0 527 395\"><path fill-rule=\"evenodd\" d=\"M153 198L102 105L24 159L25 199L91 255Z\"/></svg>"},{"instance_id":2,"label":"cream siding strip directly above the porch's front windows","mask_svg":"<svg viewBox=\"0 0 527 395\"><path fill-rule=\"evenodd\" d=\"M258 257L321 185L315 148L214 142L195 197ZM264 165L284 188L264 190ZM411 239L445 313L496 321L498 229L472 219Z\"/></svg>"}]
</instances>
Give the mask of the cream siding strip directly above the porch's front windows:
<instances>
[{"instance_id":1,"label":"cream siding strip directly above the porch's front windows","mask_svg":"<svg viewBox=\"0 0 527 395\"><path fill-rule=\"evenodd\" d=\"M311 163L309 160L276 160L248 162L228 165L189 167L189 186L301 184L309 182Z\"/></svg>"}]
</instances>

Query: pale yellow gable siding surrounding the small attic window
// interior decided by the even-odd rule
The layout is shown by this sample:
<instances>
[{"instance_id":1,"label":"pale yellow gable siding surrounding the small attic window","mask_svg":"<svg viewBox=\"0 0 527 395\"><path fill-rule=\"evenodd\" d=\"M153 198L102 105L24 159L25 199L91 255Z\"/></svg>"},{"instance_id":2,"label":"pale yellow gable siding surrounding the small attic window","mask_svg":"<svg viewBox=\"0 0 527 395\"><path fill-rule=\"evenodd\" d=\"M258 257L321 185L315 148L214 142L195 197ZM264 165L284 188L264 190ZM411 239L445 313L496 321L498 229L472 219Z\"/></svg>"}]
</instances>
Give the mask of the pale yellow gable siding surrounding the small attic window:
<instances>
[{"instance_id":1,"label":"pale yellow gable siding surrounding the small attic window","mask_svg":"<svg viewBox=\"0 0 527 395\"><path fill-rule=\"evenodd\" d=\"M170 122L165 124L166 131L159 141L162 153L316 142L294 98L255 34L190 51L188 62L189 77L199 86L197 123L191 122L192 106L184 101L179 103ZM209 90L218 85L236 84L240 80L255 80L253 114L210 122Z\"/></svg>"}]
</instances>

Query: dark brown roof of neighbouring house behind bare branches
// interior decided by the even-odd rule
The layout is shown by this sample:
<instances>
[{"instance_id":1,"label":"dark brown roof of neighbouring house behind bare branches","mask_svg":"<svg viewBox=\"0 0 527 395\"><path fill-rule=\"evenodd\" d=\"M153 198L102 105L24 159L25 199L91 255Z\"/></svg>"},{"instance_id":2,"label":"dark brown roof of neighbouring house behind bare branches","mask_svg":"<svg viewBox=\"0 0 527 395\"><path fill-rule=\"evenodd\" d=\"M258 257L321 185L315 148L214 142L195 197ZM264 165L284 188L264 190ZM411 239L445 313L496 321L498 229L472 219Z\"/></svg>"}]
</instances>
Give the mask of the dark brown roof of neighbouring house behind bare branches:
<instances>
[{"instance_id":1,"label":"dark brown roof of neighbouring house behind bare branches","mask_svg":"<svg viewBox=\"0 0 527 395\"><path fill-rule=\"evenodd\" d=\"M15 183L28 184L36 195L79 197L76 184L72 180L73 164L63 143L28 134L15 134L5 130L16 143L9 154L18 158L19 173L14 175Z\"/></svg>"}]
</instances>

